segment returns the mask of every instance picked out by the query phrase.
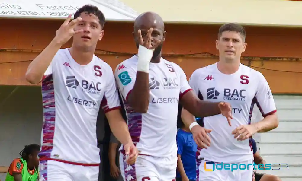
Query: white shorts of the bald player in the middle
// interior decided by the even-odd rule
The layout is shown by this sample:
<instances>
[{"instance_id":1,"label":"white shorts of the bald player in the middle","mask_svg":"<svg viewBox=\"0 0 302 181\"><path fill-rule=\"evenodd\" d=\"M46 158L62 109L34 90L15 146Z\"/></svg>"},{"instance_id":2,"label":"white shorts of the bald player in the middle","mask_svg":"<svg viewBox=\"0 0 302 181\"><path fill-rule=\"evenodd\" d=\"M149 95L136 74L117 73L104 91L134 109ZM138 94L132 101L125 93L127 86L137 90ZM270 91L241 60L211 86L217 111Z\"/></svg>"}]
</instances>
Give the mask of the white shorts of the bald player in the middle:
<instances>
[{"instance_id":1,"label":"white shorts of the bald player in the middle","mask_svg":"<svg viewBox=\"0 0 302 181\"><path fill-rule=\"evenodd\" d=\"M138 155L134 165L128 165L120 153L120 172L124 181L175 181L177 156L153 157Z\"/></svg>"}]
</instances>

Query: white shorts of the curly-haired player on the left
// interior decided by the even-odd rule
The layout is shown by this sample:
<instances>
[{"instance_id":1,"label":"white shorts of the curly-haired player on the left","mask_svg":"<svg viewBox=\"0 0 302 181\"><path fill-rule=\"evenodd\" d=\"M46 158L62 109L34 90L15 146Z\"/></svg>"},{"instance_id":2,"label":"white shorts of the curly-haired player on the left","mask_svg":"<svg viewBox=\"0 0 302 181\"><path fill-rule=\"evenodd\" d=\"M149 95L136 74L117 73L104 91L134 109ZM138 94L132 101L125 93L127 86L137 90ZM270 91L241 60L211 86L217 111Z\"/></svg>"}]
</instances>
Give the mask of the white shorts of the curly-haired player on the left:
<instances>
[{"instance_id":1,"label":"white shorts of the curly-haired player on the left","mask_svg":"<svg viewBox=\"0 0 302 181\"><path fill-rule=\"evenodd\" d=\"M39 181L98 181L99 167L41 160Z\"/></svg>"}]
</instances>

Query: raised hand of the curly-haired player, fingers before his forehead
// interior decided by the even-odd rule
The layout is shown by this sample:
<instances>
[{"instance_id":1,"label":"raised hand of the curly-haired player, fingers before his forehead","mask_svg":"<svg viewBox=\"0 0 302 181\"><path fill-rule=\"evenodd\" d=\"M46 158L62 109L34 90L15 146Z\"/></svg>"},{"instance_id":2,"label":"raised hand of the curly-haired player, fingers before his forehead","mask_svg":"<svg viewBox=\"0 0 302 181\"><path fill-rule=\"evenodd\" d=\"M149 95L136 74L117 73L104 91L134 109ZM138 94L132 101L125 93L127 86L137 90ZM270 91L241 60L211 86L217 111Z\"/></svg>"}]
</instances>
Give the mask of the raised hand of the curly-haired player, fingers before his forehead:
<instances>
[{"instance_id":1,"label":"raised hand of the curly-haired player, fingers before his forehead","mask_svg":"<svg viewBox=\"0 0 302 181\"><path fill-rule=\"evenodd\" d=\"M64 21L64 23L61 25L61 27L56 30L56 37L54 40L56 40L57 43L63 45L66 43L70 38L77 33L81 33L84 30L74 30L74 27L79 21L82 21L81 17L78 17L72 21L71 20L71 14L67 17L67 19Z\"/></svg>"}]
</instances>

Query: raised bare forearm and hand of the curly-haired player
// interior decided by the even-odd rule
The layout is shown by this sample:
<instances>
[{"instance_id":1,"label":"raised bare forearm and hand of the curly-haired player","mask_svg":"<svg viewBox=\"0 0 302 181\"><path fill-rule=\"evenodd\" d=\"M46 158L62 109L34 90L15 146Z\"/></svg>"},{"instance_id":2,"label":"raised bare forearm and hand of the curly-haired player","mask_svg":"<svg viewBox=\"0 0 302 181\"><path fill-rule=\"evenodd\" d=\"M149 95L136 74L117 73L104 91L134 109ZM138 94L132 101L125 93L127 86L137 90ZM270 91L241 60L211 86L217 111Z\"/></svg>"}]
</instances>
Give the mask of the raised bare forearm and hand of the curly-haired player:
<instances>
[{"instance_id":1,"label":"raised bare forearm and hand of the curly-haired player","mask_svg":"<svg viewBox=\"0 0 302 181\"><path fill-rule=\"evenodd\" d=\"M77 22L81 21L82 18L78 17L72 21L70 21L70 19L71 15L69 15L61 27L56 30L56 36L50 42L50 44L29 64L25 74L25 78L29 83L39 83L42 80L48 66L50 65L50 62L53 60L61 46L65 44L74 34L83 31L73 30Z\"/></svg>"}]
</instances>

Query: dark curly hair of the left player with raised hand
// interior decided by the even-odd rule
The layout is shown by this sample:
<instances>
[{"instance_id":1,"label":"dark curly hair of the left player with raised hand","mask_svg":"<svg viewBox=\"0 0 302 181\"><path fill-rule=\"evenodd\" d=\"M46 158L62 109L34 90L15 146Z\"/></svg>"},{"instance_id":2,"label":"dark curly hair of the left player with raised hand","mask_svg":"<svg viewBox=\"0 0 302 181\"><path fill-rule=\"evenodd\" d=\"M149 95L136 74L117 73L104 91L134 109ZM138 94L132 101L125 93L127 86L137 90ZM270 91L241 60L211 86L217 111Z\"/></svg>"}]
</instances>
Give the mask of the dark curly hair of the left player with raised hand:
<instances>
[{"instance_id":1,"label":"dark curly hair of the left player with raised hand","mask_svg":"<svg viewBox=\"0 0 302 181\"><path fill-rule=\"evenodd\" d=\"M94 14L98 17L99 23L101 27L103 28L105 25L105 16L102 13L101 10L98 9L98 7L94 5L84 5L82 8L79 8L78 11L74 14L74 19L78 18L81 13L85 12L86 14Z\"/></svg>"}]
</instances>

